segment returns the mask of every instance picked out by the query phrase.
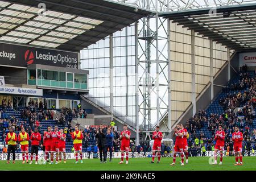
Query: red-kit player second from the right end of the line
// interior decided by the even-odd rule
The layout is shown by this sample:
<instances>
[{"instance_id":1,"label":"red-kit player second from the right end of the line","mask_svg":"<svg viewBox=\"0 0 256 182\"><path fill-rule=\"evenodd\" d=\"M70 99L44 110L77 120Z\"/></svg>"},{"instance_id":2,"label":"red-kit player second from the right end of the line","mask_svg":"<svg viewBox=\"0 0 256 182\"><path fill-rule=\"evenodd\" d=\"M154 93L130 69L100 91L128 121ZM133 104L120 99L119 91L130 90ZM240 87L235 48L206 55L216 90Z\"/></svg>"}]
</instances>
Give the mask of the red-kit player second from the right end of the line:
<instances>
[{"instance_id":1,"label":"red-kit player second from the right end of the line","mask_svg":"<svg viewBox=\"0 0 256 182\"><path fill-rule=\"evenodd\" d=\"M220 151L220 165L222 164L223 159L223 150L225 144L225 131L222 130L222 125L218 125L218 131L216 131L214 140L216 140L216 144L214 147L214 165L217 164L217 151Z\"/></svg>"}]
</instances>

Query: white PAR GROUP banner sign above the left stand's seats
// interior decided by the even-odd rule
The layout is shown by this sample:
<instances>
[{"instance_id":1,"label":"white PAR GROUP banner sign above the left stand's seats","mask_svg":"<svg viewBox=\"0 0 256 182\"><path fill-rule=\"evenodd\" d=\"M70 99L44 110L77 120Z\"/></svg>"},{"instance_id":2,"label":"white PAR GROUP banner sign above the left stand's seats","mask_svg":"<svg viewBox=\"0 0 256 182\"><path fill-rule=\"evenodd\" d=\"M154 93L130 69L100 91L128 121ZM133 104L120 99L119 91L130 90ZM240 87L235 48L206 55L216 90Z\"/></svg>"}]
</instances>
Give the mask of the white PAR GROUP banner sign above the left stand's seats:
<instances>
[{"instance_id":1,"label":"white PAR GROUP banner sign above the left stand's seats","mask_svg":"<svg viewBox=\"0 0 256 182\"><path fill-rule=\"evenodd\" d=\"M43 96L42 89L30 89L30 88L20 88L20 87L12 87L12 86L0 86L0 93L25 95L25 96Z\"/></svg>"}]
</instances>

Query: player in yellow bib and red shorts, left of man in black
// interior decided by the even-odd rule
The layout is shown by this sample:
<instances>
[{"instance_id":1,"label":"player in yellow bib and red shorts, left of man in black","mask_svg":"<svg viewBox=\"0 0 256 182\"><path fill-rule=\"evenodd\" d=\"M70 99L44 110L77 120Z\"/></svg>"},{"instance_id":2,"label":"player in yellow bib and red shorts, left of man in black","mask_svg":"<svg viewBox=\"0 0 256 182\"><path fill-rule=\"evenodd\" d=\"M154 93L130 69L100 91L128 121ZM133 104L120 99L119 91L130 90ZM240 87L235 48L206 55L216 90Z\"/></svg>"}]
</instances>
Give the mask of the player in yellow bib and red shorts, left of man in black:
<instances>
[{"instance_id":1,"label":"player in yellow bib and red shorts, left of man in black","mask_svg":"<svg viewBox=\"0 0 256 182\"><path fill-rule=\"evenodd\" d=\"M82 135L82 132L79 130L78 126L75 126L75 131L72 134L73 144L75 148L75 155L76 155L76 164L78 163L78 152L80 153L80 159L82 163L82 139L84 138L84 135Z\"/></svg>"}]
</instances>

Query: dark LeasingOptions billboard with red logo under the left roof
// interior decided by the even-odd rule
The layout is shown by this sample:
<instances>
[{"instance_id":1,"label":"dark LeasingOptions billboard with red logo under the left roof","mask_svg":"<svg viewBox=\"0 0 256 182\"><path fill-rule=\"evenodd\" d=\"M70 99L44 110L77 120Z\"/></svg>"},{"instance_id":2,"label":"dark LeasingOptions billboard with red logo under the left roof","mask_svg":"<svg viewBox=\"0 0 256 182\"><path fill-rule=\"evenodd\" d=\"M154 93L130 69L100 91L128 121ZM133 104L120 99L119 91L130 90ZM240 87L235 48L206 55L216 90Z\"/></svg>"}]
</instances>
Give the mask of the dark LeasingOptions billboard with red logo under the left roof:
<instances>
[{"instance_id":1,"label":"dark LeasingOptions billboard with red logo under the left roof","mask_svg":"<svg viewBox=\"0 0 256 182\"><path fill-rule=\"evenodd\" d=\"M56 51L36 47L0 44L0 64L27 67L28 64L44 64L78 69L79 53Z\"/></svg>"}]
</instances>

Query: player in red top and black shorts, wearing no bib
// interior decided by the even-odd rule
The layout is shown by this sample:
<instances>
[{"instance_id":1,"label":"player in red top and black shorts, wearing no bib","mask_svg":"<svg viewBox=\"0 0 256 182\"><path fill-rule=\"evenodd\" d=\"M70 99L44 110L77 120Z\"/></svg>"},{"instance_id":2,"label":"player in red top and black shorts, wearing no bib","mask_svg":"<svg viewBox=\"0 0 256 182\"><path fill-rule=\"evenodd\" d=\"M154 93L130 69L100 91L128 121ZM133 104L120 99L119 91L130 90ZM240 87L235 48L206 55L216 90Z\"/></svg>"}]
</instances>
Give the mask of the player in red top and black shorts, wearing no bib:
<instances>
[{"instance_id":1,"label":"player in red top and black shorts, wearing no bib","mask_svg":"<svg viewBox=\"0 0 256 182\"><path fill-rule=\"evenodd\" d=\"M35 153L36 155L36 162L35 164L38 164L38 150L39 150L39 144L41 142L41 134L38 132L38 127L35 127L35 132L31 134L31 156L30 156L30 164L32 164L33 155Z\"/></svg>"}]
</instances>

